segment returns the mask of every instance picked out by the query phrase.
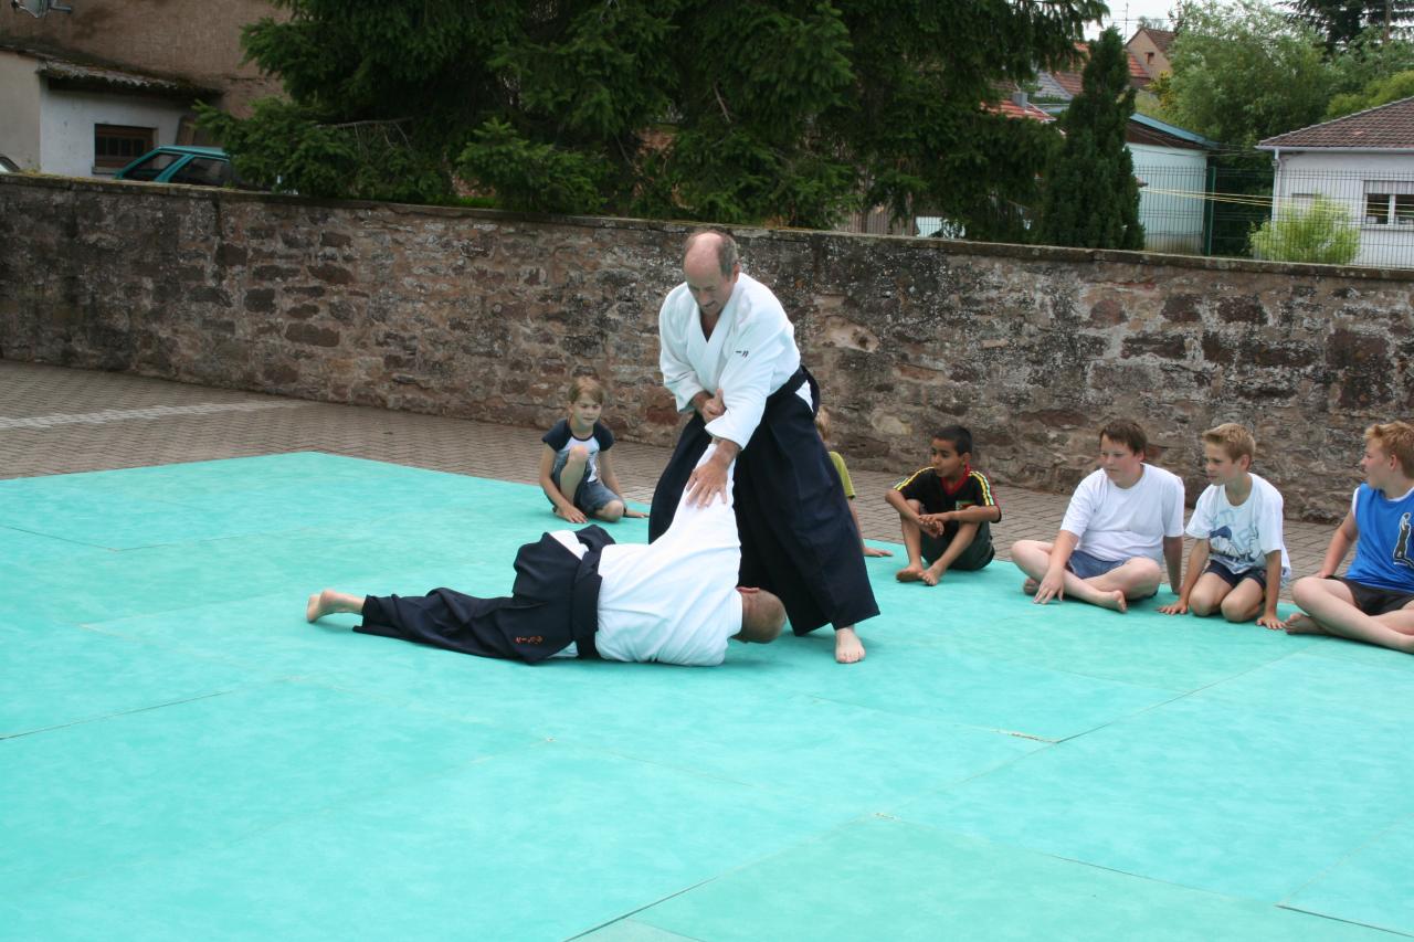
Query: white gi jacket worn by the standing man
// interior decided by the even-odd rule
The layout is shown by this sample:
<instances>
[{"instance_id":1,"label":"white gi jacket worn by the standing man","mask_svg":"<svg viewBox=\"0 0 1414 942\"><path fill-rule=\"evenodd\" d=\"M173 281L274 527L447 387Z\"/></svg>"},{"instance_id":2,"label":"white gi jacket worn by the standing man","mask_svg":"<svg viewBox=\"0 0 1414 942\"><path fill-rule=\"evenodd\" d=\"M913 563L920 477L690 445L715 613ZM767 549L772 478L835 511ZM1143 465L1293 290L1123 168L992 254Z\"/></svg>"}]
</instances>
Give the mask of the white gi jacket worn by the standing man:
<instances>
[{"instance_id":1,"label":"white gi jacket worn by the standing man","mask_svg":"<svg viewBox=\"0 0 1414 942\"><path fill-rule=\"evenodd\" d=\"M658 365L677 410L687 412L700 392L715 396L721 389L727 412L707 423L707 433L741 447L761 423L766 396L800 368L795 325L771 289L749 274L737 277L710 338L687 283L674 287L658 311ZM809 383L796 392L813 406Z\"/></svg>"}]
</instances>

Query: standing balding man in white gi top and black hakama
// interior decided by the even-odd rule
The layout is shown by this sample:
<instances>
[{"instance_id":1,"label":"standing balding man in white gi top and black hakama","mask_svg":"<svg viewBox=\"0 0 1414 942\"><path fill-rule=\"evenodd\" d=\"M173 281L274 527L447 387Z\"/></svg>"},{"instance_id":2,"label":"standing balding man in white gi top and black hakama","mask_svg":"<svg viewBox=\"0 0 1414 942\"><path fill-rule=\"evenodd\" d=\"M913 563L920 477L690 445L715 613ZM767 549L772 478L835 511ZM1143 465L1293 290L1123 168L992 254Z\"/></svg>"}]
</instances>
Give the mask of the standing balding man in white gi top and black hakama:
<instances>
[{"instance_id":1,"label":"standing balding man in white gi top and black hakama","mask_svg":"<svg viewBox=\"0 0 1414 942\"><path fill-rule=\"evenodd\" d=\"M649 539L669 530L684 492L687 505L723 494L735 461L738 581L779 595L797 635L831 622L836 661L861 661L854 625L878 605L814 429L819 389L795 327L771 290L742 274L725 232L687 239L683 276L658 315L659 362L679 410L694 414L653 492ZM699 461L713 443L714 457Z\"/></svg>"}]
</instances>

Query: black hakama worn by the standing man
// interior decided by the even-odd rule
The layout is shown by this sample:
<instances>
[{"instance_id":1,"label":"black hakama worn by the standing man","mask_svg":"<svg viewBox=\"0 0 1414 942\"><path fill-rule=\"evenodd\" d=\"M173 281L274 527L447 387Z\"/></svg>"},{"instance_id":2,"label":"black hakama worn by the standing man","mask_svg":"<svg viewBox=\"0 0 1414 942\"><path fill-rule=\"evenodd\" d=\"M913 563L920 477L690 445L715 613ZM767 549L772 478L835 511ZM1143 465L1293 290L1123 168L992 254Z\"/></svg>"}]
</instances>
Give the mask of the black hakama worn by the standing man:
<instances>
[{"instance_id":1,"label":"black hakama worn by the standing man","mask_svg":"<svg viewBox=\"0 0 1414 942\"><path fill-rule=\"evenodd\" d=\"M740 584L779 595L797 635L880 614L840 477L814 429L814 410L796 395L806 380L812 399L820 402L805 368L766 399L761 423L737 457L734 489ZM694 412L653 491L650 542L672 525L687 478L708 444L711 434Z\"/></svg>"}]
</instances>

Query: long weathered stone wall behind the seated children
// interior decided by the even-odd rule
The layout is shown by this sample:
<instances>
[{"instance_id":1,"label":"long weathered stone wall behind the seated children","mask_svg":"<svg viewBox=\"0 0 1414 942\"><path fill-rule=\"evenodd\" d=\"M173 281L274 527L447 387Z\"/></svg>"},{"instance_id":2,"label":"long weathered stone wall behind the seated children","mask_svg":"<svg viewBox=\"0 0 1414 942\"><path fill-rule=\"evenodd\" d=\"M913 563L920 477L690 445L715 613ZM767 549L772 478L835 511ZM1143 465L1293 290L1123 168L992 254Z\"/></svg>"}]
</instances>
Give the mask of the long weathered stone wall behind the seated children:
<instances>
[{"instance_id":1,"label":"long weathered stone wall behind the seated children","mask_svg":"<svg viewBox=\"0 0 1414 942\"><path fill-rule=\"evenodd\" d=\"M608 380L629 440L679 416L656 311L683 225L0 177L0 356L547 426ZM1196 433L1250 424L1288 513L1339 515L1360 433L1414 412L1414 274L741 229L851 464L971 427L1001 482L1063 491L1140 419L1202 487Z\"/></svg>"}]
</instances>

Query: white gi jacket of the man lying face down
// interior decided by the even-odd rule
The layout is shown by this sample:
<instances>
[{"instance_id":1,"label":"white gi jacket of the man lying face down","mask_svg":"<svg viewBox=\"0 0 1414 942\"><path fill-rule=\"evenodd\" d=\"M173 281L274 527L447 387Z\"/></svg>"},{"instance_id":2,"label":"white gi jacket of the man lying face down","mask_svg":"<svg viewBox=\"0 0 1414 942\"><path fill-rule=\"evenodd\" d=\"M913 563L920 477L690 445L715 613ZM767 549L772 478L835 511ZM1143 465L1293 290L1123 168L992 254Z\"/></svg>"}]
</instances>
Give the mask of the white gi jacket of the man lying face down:
<instances>
[{"instance_id":1,"label":"white gi jacket of the man lying face down","mask_svg":"<svg viewBox=\"0 0 1414 942\"><path fill-rule=\"evenodd\" d=\"M711 457L708 447L703 461ZM701 463L699 463L701 464ZM727 501L677 505L673 525L653 543L614 543L600 556L600 625L594 646L605 661L662 661L714 666L741 632L741 542L732 508L735 463L727 470ZM551 533L583 557L587 547L571 530ZM571 644L554 655L575 656Z\"/></svg>"}]
</instances>

